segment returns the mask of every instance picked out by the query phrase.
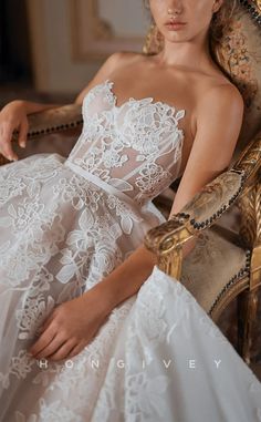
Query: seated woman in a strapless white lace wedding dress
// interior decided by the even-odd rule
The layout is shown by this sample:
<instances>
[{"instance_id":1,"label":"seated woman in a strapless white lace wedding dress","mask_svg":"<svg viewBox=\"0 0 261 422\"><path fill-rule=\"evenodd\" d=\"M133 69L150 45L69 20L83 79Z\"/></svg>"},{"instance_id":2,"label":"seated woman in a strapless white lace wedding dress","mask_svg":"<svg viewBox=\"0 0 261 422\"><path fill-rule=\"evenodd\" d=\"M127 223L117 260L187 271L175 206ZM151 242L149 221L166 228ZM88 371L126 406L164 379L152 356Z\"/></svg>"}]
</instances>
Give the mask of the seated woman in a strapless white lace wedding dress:
<instances>
[{"instance_id":1,"label":"seated woman in a strapless white lace wedding dress","mask_svg":"<svg viewBox=\"0 0 261 422\"><path fill-rule=\"evenodd\" d=\"M1 421L261 420L254 374L143 246L165 220L153 197L182 175L171 217L230 163L243 101L208 47L228 2L149 7L164 50L108 58L67 159L0 169ZM3 107L1 153L51 106Z\"/></svg>"}]
</instances>

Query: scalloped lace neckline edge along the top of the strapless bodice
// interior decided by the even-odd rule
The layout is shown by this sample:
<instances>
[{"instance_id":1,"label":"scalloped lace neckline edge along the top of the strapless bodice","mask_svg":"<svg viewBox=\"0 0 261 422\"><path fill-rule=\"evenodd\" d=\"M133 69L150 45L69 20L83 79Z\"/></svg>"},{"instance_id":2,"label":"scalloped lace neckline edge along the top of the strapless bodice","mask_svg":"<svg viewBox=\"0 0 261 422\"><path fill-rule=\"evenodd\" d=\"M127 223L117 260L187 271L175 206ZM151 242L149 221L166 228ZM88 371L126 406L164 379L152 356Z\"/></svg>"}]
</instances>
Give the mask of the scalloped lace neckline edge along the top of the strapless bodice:
<instances>
[{"instance_id":1,"label":"scalloped lace neckline edge along the top of the strapless bodice","mask_svg":"<svg viewBox=\"0 0 261 422\"><path fill-rule=\"evenodd\" d=\"M112 95L112 97L114 100L114 107L116 110L121 110L124 105L126 105L126 104L128 104L130 102L135 102L135 103L145 103L145 102L147 103L147 102L149 102L150 104L158 104L158 105L161 105L163 107L170 109L170 110L173 110L173 112L177 112L178 115L180 113L184 116L185 113L186 113L186 110L184 110L184 109L177 109L175 105L168 104L168 103L166 103L164 101L155 101L155 99L153 96L145 96L143 99L135 99L133 96L129 96L128 99L124 100L122 104L118 104L118 97L117 97L117 95L115 94L115 92L113 90L113 85L114 85L114 81L112 81L109 79L106 79L104 82L101 82L101 83L94 85L87 92L87 94L91 93L91 91L93 91L93 90L95 90L95 89L97 89L100 86L107 86L108 93L111 93L111 95Z\"/></svg>"}]
</instances>

